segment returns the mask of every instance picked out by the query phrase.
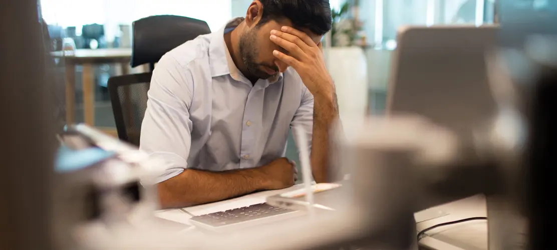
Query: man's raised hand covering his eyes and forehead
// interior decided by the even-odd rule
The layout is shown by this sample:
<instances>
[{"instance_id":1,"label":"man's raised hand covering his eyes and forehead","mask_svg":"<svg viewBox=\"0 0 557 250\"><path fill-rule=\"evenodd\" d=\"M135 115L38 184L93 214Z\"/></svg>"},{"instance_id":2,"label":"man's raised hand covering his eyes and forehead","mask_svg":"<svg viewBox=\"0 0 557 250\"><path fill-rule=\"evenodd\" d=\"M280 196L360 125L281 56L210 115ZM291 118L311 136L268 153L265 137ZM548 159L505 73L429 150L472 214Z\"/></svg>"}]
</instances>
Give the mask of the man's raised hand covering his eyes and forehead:
<instances>
[{"instance_id":1,"label":"man's raised hand covering his eyes and forehead","mask_svg":"<svg viewBox=\"0 0 557 250\"><path fill-rule=\"evenodd\" d=\"M316 44L306 33L292 27L271 31L271 41L289 54L273 51L276 58L294 68L307 89L314 95L329 97L334 93L333 79L325 66L321 43Z\"/></svg>"}]
</instances>

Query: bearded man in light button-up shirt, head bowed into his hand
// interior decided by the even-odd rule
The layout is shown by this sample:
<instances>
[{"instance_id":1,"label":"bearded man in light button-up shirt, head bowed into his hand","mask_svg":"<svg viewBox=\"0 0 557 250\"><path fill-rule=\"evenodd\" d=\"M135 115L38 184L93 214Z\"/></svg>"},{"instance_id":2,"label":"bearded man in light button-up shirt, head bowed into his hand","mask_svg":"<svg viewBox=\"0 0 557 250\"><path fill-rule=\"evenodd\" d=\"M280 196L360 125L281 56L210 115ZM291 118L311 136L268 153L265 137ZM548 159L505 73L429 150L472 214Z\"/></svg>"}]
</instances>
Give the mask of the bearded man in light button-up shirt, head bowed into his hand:
<instances>
[{"instance_id":1,"label":"bearded man in light button-up shirt, head bowed into his hand","mask_svg":"<svg viewBox=\"0 0 557 250\"><path fill-rule=\"evenodd\" d=\"M328 131L338 117L321 37L328 0L255 0L246 17L165 54L153 72L140 148L168 159L164 208L290 187L291 126L311 138L317 182L327 179Z\"/></svg>"}]
</instances>

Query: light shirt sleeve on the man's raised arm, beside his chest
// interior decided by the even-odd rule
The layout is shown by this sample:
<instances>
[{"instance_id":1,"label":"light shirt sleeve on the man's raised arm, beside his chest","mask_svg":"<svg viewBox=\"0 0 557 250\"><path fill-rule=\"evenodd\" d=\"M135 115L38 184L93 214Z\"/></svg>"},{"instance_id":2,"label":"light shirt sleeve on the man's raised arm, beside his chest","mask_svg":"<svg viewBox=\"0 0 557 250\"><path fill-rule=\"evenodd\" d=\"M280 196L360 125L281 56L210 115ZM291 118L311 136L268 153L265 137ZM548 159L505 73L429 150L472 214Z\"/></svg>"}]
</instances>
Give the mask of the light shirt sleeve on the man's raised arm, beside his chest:
<instances>
[{"instance_id":1,"label":"light shirt sleeve on the man's raised arm, beside his chest","mask_svg":"<svg viewBox=\"0 0 557 250\"><path fill-rule=\"evenodd\" d=\"M300 107L296 110L294 118L290 122L290 127L300 128L306 133L307 146L311 152L311 136L313 134L313 114L314 114L314 97L304 86L302 89L302 98ZM300 148L298 138L294 136L296 147Z\"/></svg>"}]
</instances>

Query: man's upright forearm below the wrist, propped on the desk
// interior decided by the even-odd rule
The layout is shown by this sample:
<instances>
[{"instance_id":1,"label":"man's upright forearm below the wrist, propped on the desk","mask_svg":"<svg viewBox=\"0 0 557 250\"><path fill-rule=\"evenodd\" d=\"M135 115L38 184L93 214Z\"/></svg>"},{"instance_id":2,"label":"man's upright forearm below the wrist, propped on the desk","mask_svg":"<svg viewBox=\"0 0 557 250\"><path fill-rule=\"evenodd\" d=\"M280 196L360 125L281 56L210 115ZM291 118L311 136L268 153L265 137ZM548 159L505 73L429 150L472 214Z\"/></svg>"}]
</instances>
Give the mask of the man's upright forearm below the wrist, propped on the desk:
<instances>
[{"instance_id":1,"label":"man's upright forearm below the wrist, propped on the desk","mask_svg":"<svg viewBox=\"0 0 557 250\"><path fill-rule=\"evenodd\" d=\"M314 123L311 139L311 171L317 183L328 181L329 131L339 116L334 87L314 95Z\"/></svg>"}]
</instances>

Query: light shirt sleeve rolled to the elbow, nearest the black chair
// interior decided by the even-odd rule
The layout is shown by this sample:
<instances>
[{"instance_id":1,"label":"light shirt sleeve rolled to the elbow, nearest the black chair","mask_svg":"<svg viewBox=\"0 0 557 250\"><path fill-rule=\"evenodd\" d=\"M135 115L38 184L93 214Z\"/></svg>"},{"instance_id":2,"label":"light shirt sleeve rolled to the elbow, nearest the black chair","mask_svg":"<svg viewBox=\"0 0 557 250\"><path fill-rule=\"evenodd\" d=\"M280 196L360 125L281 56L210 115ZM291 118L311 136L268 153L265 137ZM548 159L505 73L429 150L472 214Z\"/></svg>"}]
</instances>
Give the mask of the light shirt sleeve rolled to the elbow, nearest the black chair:
<instances>
[{"instance_id":1,"label":"light shirt sleeve rolled to the elbow, nearest the black chair","mask_svg":"<svg viewBox=\"0 0 557 250\"><path fill-rule=\"evenodd\" d=\"M187 167L192 146L189 107L193 80L190 71L172 56L164 56L153 71L148 97L139 147L169 163L157 179L163 182Z\"/></svg>"}]
</instances>

